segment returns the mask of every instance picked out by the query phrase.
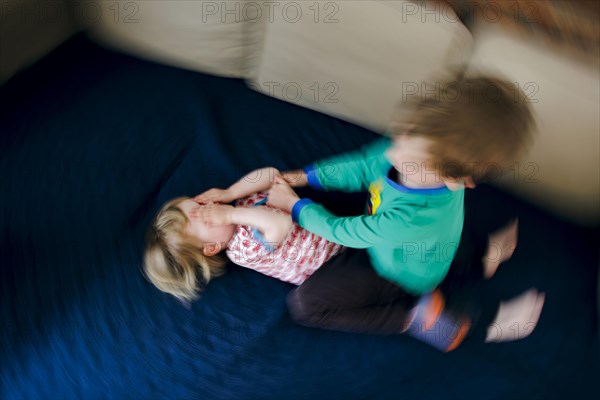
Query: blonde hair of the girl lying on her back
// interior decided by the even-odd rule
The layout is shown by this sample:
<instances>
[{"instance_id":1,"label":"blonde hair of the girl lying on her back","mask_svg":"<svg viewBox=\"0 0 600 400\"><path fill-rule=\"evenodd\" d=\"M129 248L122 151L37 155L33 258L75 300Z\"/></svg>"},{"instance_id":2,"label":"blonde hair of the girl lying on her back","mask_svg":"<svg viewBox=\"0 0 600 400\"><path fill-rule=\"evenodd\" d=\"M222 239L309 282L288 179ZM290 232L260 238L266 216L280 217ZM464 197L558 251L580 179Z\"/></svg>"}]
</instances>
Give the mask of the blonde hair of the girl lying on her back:
<instances>
[{"instance_id":1,"label":"blonde hair of the girl lying on her back","mask_svg":"<svg viewBox=\"0 0 600 400\"><path fill-rule=\"evenodd\" d=\"M221 275L226 259L206 256L203 249L184 232L188 217L179 204L188 197L167 202L152 221L146 234L144 274L159 290L184 304L196 300L206 284Z\"/></svg>"}]
</instances>

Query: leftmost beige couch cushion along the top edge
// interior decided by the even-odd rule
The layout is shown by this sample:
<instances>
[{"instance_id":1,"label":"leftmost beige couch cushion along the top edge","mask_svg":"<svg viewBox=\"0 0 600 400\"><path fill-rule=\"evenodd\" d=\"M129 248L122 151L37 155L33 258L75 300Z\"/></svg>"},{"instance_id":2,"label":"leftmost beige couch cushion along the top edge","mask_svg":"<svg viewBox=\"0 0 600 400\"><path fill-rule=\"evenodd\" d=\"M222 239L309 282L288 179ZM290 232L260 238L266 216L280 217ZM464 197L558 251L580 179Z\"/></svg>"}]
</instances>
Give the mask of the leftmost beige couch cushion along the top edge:
<instances>
[{"instance_id":1,"label":"leftmost beige couch cushion along the top edge","mask_svg":"<svg viewBox=\"0 0 600 400\"><path fill-rule=\"evenodd\" d=\"M83 22L99 42L152 61L228 77L248 76L266 22L248 0L93 4Z\"/></svg>"}]
</instances>

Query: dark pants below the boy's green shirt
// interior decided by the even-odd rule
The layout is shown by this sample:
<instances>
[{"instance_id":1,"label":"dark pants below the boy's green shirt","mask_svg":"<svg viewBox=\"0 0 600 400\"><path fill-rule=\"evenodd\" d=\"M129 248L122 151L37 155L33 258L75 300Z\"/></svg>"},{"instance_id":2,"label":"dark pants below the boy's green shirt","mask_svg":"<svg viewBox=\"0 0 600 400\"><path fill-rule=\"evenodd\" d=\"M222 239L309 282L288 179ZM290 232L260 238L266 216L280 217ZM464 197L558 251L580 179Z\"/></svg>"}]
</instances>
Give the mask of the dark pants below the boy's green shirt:
<instances>
[{"instance_id":1,"label":"dark pants below the boy's green shirt","mask_svg":"<svg viewBox=\"0 0 600 400\"><path fill-rule=\"evenodd\" d=\"M483 265L487 233L465 226L457 254L440 285L445 312L468 316L473 325L482 311ZM380 277L366 250L346 249L290 292L288 309L297 323L346 332L397 334L407 328L416 302L396 284ZM497 309L487 310L486 320ZM488 307L489 308L489 307ZM490 315L491 312L491 315Z\"/></svg>"}]
</instances>

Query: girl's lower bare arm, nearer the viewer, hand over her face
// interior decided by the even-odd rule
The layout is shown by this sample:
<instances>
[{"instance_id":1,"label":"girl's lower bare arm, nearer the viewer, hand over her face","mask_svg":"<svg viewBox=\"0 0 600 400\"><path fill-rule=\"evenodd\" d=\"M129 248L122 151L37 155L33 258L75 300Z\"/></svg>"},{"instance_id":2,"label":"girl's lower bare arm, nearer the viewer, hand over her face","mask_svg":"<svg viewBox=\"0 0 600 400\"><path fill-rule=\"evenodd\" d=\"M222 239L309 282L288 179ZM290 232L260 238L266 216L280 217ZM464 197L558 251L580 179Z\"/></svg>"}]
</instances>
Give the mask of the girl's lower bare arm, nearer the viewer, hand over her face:
<instances>
[{"instance_id":1,"label":"girl's lower bare arm, nearer the viewer, hand over her face","mask_svg":"<svg viewBox=\"0 0 600 400\"><path fill-rule=\"evenodd\" d=\"M247 208L208 204L200 211L200 217L210 226L235 224L257 228L269 243L280 243L292 227L289 214L260 206Z\"/></svg>"}]
</instances>

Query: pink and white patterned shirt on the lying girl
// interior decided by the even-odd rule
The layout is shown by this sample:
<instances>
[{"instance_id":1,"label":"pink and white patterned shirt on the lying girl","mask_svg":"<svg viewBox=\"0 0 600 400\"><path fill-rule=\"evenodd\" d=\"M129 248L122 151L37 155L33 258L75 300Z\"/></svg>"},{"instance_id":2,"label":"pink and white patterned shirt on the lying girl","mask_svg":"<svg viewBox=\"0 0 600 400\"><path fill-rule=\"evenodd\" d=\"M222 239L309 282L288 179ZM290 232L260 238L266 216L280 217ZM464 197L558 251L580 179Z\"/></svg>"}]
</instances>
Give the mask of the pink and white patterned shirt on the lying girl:
<instances>
[{"instance_id":1,"label":"pink and white patterned shirt on the lying girl","mask_svg":"<svg viewBox=\"0 0 600 400\"><path fill-rule=\"evenodd\" d=\"M237 201L237 207L264 205L266 196L257 193ZM276 210L284 213L284 211ZM329 242L294 223L286 238L276 247L265 243L262 235L250 226L238 225L237 231L227 245L227 257L235 264L300 285L321 265L344 247Z\"/></svg>"}]
</instances>

